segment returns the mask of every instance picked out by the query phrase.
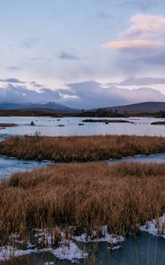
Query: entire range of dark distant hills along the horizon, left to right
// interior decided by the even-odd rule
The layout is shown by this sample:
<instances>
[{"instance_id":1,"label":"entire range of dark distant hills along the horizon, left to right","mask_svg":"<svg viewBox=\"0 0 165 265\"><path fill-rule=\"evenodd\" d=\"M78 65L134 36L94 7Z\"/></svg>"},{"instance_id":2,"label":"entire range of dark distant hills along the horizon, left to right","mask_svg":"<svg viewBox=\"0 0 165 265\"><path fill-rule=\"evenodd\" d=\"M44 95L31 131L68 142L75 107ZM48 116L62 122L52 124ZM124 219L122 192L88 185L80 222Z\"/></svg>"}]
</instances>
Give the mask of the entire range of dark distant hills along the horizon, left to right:
<instances>
[{"instance_id":1,"label":"entire range of dark distant hills along the horizon, left to right","mask_svg":"<svg viewBox=\"0 0 165 265\"><path fill-rule=\"evenodd\" d=\"M94 110L76 110L56 102L12 103L0 102L1 115L68 115L72 117L124 117L127 115L165 116L165 102L141 102L131 105L99 108Z\"/></svg>"}]
</instances>

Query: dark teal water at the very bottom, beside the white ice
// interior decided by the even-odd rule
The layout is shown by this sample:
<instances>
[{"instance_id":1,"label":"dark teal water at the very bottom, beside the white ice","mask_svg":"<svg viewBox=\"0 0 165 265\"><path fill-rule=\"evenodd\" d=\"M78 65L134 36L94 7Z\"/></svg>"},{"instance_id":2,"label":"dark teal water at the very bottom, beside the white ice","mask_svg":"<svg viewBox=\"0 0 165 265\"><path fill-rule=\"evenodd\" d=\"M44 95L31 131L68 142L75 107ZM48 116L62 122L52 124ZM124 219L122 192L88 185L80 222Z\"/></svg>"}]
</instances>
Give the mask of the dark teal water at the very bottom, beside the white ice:
<instances>
[{"instance_id":1,"label":"dark teal water at the very bottom, beside the white ice","mask_svg":"<svg viewBox=\"0 0 165 265\"><path fill-rule=\"evenodd\" d=\"M95 261L95 265L165 265L165 241L154 237L146 232L142 232L139 238L128 235L122 248L114 251L109 250L109 243L79 244L82 250L90 255L90 260ZM43 265L46 261L54 261L56 265L69 265L71 261L59 261L52 254L30 254L22 257L34 264ZM79 261L80 265L85 265L84 260ZM86 263L87 264L87 263ZM89 263L90 264L90 263Z\"/></svg>"}]
</instances>

